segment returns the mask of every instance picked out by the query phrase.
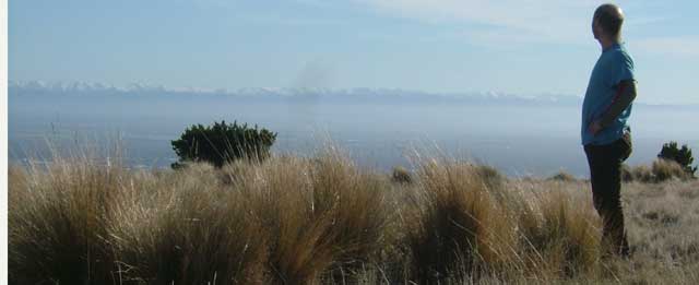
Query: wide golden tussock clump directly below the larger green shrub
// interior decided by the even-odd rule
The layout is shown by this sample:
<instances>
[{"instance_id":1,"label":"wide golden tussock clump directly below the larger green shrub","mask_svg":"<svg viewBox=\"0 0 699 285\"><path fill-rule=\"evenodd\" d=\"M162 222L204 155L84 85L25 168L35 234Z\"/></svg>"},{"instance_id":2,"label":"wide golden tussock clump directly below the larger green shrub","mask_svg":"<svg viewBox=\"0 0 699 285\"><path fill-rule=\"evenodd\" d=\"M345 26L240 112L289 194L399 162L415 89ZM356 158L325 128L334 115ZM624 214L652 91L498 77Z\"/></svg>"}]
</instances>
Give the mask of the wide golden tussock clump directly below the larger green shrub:
<instances>
[{"instance_id":1,"label":"wide golden tussock clump directly below the larger green shrub","mask_svg":"<svg viewBox=\"0 0 699 285\"><path fill-rule=\"evenodd\" d=\"M216 178L213 167L191 165L159 179L139 173L125 180L107 240L118 282L263 281L262 226Z\"/></svg>"}]
</instances>

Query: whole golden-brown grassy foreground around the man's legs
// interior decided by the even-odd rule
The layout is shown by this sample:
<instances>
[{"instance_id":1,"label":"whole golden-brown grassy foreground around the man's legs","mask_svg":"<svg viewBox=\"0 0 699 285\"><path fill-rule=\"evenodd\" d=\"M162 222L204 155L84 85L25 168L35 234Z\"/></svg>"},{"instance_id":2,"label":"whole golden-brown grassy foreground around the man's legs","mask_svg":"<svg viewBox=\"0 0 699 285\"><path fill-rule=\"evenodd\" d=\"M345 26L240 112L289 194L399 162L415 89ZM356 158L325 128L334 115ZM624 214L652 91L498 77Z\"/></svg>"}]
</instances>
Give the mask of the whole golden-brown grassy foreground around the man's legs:
<instances>
[{"instance_id":1,"label":"whole golden-brown grassy foreground around the man's legs","mask_svg":"<svg viewBox=\"0 0 699 285\"><path fill-rule=\"evenodd\" d=\"M215 169L9 170L10 284L699 283L699 182L624 186L633 257L603 259L589 183L337 152Z\"/></svg>"}]
</instances>

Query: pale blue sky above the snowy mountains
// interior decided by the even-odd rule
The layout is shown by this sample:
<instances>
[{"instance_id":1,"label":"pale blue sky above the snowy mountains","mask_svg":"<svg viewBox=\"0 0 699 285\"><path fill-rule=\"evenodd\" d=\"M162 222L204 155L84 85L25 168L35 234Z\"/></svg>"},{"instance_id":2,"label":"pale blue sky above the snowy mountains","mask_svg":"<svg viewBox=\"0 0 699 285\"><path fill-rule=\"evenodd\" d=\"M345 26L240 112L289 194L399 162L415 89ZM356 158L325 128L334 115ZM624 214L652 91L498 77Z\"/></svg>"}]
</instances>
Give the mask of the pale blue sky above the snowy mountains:
<instances>
[{"instance_id":1,"label":"pale blue sky above the snowy mountains","mask_svg":"<svg viewBox=\"0 0 699 285\"><path fill-rule=\"evenodd\" d=\"M10 0L9 80L582 96L602 1ZM699 1L618 1L639 102L699 104Z\"/></svg>"}]
</instances>

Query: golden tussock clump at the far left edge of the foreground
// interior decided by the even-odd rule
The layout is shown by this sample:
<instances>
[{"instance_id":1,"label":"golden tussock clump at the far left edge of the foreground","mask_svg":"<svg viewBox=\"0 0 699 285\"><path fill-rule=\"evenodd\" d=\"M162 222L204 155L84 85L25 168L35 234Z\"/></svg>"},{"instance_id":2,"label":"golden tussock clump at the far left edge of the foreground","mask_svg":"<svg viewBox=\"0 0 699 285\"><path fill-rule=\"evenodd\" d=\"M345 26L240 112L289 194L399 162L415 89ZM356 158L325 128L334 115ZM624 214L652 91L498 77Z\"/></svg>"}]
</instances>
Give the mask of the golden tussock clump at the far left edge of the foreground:
<instances>
[{"instance_id":1,"label":"golden tussock clump at the far left edge of the foreground","mask_svg":"<svg viewBox=\"0 0 699 285\"><path fill-rule=\"evenodd\" d=\"M108 282L104 244L120 167L59 161L10 167L9 271L22 284Z\"/></svg>"}]
</instances>

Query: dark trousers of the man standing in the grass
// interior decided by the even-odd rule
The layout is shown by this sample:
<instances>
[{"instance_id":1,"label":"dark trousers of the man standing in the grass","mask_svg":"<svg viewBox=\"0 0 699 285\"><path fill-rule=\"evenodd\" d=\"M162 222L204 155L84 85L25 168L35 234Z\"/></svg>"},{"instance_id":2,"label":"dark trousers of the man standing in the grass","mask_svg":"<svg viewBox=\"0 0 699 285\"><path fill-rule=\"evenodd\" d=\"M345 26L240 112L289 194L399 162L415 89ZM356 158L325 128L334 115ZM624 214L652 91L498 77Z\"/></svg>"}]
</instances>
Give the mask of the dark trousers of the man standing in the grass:
<instances>
[{"instance_id":1,"label":"dark trousers of the man standing in the grass","mask_svg":"<svg viewBox=\"0 0 699 285\"><path fill-rule=\"evenodd\" d=\"M629 254L621 211L621 163L631 154L630 134L605 145L585 145L592 201L603 223L605 253Z\"/></svg>"}]
</instances>

